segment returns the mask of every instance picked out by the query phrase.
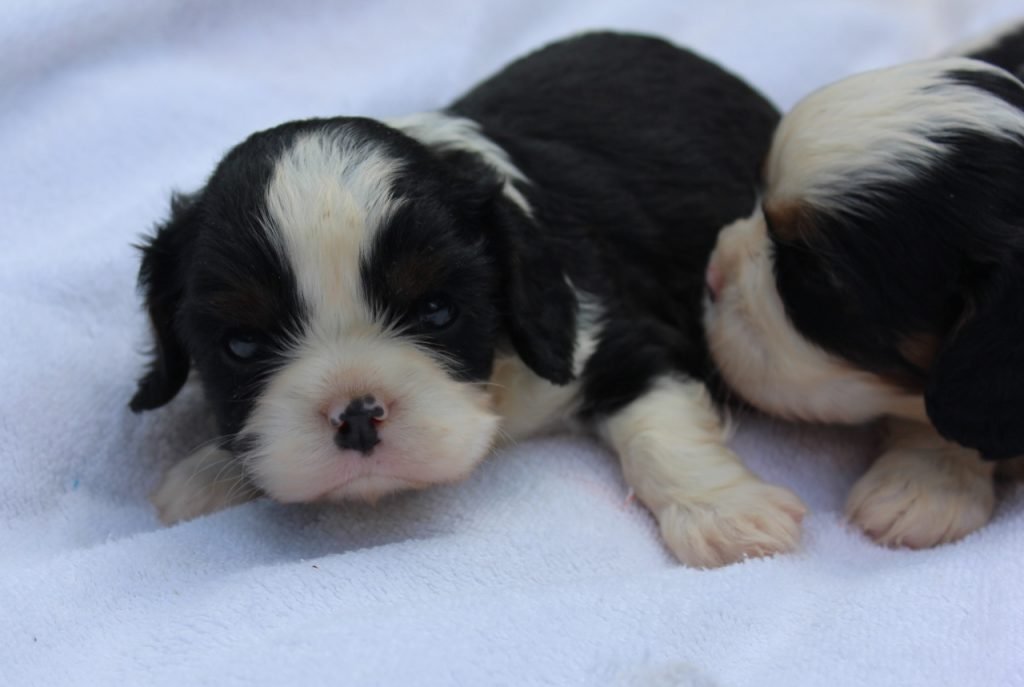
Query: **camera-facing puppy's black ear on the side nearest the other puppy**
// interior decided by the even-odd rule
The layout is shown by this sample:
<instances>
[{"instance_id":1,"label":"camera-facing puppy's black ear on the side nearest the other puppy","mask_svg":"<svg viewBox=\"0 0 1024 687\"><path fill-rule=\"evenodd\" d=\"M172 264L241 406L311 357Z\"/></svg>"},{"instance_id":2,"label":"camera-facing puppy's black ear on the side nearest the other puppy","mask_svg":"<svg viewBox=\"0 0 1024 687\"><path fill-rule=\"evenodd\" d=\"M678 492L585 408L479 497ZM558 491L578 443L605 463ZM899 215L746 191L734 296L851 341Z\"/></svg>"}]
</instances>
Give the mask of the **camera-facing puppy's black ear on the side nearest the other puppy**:
<instances>
[{"instance_id":1,"label":"camera-facing puppy's black ear on the side nearest the other puppy","mask_svg":"<svg viewBox=\"0 0 1024 687\"><path fill-rule=\"evenodd\" d=\"M577 296L541 227L522 209L502 197L492 214L509 339L530 370L568 384L574 377Z\"/></svg>"}]
</instances>

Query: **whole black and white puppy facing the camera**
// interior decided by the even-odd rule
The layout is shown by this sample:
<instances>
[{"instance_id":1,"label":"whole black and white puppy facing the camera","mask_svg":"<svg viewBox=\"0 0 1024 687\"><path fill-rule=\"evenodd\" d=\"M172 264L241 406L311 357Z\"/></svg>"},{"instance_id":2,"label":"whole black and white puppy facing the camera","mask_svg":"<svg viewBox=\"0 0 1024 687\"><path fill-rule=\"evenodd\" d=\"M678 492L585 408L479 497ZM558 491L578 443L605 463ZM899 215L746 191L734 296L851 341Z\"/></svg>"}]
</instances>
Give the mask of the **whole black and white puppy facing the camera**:
<instances>
[{"instance_id":1,"label":"whole black and white puppy facing the camera","mask_svg":"<svg viewBox=\"0 0 1024 687\"><path fill-rule=\"evenodd\" d=\"M579 421L682 561L793 548L804 507L726 447L700 325L777 120L690 52L591 34L442 112L251 136L144 247L131 405L195 367L226 437L170 470L162 518L452 482Z\"/></svg>"}]
</instances>

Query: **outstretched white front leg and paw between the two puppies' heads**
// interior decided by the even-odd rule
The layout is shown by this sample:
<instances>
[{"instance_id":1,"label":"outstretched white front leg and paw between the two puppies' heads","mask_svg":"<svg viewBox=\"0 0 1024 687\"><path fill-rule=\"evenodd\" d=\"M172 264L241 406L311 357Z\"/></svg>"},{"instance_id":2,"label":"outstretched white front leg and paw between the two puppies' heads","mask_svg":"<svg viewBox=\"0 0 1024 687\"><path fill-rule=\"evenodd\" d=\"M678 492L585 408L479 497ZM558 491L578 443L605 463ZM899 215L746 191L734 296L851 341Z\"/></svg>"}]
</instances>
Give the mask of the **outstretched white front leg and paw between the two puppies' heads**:
<instances>
[{"instance_id":1,"label":"outstretched white front leg and paw between the two puppies' heads","mask_svg":"<svg viewBox=\"0 0 1024 687\"><path fill-rule=\"evenodd\" d=\"M599 431L683 563L715 567L799 543L803 503L762 481L725 445L703 384L662 379Z\"/></svg>"}]
</instances>

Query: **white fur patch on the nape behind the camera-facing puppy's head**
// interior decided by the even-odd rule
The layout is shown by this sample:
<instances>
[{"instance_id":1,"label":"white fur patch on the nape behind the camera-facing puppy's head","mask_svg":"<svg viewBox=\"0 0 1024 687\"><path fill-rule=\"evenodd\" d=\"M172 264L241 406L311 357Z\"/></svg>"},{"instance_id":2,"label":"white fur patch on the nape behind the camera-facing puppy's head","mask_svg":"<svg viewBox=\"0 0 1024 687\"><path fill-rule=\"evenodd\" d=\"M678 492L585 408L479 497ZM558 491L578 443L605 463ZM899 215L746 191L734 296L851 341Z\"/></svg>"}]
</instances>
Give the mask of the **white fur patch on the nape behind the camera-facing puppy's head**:
<instances>
[{"instance_id":1,"label":"white fur patch on the nape behind the camera-facing puppy's head","mask_svg":"<svg viewBox=\"0 0 1024 687\"><path fill-rule=\"evenodd\" d=\"M500 145L483 135L480 126L465 117L453 117L439 112L419 113L385 124L403 132L427 147L437 151L465 151L478 155L504 181L502 192L520 210L530 214L529 204L516 188L516 183L526 183L526 177L516 168Z\"/></svg>"}]
</instances>

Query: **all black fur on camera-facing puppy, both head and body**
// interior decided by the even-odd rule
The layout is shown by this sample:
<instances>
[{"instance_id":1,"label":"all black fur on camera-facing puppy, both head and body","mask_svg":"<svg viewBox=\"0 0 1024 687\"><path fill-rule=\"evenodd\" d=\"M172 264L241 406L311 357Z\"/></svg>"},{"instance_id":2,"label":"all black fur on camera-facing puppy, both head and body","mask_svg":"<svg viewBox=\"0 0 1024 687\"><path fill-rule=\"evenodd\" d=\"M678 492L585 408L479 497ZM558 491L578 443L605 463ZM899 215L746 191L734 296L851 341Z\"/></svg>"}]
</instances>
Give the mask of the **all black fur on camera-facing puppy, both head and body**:
<instances>
[{"instance_id":1,"label":"all black fur on camera-facing puppy, both head and body","mask_svg":"<svg viewBox=\"0 0 1024 687\"><path fill-rule=\"evenodd\" d=\"M512 63L449 113L479 123L523 172L528 213L477 156L430 149L372 120L256 134L145 249L141 281L160 344L133 410L167 402L191 358L223 431L240 429L285 339L302 328L295 275L258 218L274 160L308 131L402 162L394 190L407 203L360 277L374 307L442 351L458 379L487 379L507 348L551 382L570 381L583 315L573 289L603 324L583 371L584 415L614 412L670 372L707 379L703 270L719 227L754 206L772 105L664 41L591 34ZM459 316L430 328L418 313L438 298ZM262 337L258 359L225 357L238 332Z\"/></svg>"}]
</instances>

